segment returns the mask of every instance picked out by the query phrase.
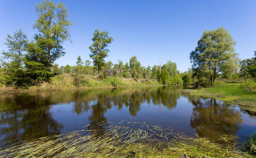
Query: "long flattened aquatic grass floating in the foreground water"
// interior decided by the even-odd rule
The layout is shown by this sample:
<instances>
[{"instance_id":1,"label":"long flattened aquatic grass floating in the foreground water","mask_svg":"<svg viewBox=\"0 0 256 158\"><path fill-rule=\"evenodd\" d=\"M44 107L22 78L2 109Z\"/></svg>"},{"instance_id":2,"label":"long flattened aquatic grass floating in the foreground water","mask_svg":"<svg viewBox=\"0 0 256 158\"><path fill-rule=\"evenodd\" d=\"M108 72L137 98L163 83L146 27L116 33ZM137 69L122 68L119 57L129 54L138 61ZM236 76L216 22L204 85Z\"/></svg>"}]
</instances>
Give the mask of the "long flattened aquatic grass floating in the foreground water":
<instances>
[{"instance_id":1,"label":"long flattened aquatic grass floating in the foreground water","mask_svg":"<svg viewBox=\"0 0 256 158\"><path fill-rule=\"evenodd\" d=\"M105 126L106 125L106 126ZM129 126L128 126L129 125ZM242 157L235 136L186 136L157 125L101 122L105 129L80 130L14 144L3 157ZM84 126L86 129L87 126ZM220 143L222 142L222 143Z\"/></svg>"}]
</instances>

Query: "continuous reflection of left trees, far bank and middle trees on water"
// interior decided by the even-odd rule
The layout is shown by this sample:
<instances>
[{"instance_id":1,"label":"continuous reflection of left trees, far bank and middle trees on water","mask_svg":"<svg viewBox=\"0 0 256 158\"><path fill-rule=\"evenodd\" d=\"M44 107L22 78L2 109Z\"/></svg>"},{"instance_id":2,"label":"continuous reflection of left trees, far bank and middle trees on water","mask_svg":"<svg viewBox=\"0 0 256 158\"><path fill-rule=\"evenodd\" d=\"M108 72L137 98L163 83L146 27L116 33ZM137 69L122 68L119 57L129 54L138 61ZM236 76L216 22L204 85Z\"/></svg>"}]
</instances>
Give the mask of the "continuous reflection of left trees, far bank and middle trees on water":
<instances>
[{"instance_id":1,"label":"continuous reflection of left trees, far bank and middle trees on water","mask_svg":"<svg viewBox=\"0 0 256 158\"><path fill-rule=\"evenodd\" d=\"M142 104L163 105L172 109L179 94L166 88L105 89L77 92L47 92L0 95L0 139L2 143L27 138L35 139L60 133L63 125L54 120L52 105L68 103L78 116L90 112L89 130L103 131L107 125L104 116L113 106L127 107L136 116Z\"/></svg>"}]
</instances>

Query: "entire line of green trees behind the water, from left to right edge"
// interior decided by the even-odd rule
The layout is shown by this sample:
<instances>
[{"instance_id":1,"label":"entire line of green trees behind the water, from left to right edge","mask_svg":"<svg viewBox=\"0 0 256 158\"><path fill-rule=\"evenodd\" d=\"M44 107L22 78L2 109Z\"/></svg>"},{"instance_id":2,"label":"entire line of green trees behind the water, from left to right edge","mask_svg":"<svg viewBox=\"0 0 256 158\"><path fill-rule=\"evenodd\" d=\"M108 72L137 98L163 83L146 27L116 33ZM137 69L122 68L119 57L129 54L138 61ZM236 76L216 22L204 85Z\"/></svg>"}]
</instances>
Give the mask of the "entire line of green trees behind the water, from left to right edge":
<instances>
[{"instance_id":1,"label":"entire line of green trees behind the water, from left to right edge","mask_svg":"<svg viewBox=\"0 0 256 158\"><path fill-rule=\"evenodd\" d=\"M109 45L113 38L106 31L95 29L92 45L89 46L92 63L83 61L79 56L73 66L58 67L55 61L65 54L63 43L70 41L69 29L72 23L68 20L67 7L62 3L42 1L35 6L37 14L33 26L36 33L33 40L28 40L22 29L7 35L5 45L8 51L3 51L1 58L0 82L7 86L31 86L50 81L50 77L61 73L70 73L74 84L80 86L84 76L94 75L101 80L105 77L145 78L157 80L164 85L195 86L213 84L216 78L256 78L255 57L241 62L235 52L235 41L226 29L205 31L190 54L192 68L179 73L176 63L168 61L163 65L143 66L136 56L128 63L121 60L117 64L106 62L109 55ZM255 87L256 83L250 83Z\"/></svg>"}]
</instances>

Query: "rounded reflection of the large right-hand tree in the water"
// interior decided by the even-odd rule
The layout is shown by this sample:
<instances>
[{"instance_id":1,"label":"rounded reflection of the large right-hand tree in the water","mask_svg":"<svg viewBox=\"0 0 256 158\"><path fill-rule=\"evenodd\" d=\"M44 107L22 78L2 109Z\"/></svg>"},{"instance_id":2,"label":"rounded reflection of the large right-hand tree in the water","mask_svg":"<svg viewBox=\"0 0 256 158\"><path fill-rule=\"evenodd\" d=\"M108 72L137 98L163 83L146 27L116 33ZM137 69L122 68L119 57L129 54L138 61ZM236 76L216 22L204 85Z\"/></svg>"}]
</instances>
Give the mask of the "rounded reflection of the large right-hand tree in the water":
<instances>
[{"instance_id":1,"label":"rounded reflection of the large right-hand tree in the water","mask_svg":"<svg viewBox=\"0 0 256 158\"><path fill-rule=\"evenodd\" d=\"M241 114L234 106L214 98L188 98L194 105L190 124L199 136L233 135L241 128Z\"/></svg>"}]
</instances>

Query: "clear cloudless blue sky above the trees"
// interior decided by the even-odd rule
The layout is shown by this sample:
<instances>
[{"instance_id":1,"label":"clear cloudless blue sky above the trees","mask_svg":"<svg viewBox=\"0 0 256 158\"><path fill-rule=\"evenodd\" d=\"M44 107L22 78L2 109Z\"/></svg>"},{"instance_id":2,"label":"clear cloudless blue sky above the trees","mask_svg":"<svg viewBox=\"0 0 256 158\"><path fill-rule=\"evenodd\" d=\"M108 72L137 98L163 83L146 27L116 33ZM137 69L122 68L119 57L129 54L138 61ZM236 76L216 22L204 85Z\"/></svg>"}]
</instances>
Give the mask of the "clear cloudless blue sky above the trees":
<instances>
[{"instance_id":1,"label":"clear cloudless blue sky above the trees","mask_svg":"<svg viewBox=\"0 0 256 158\"><path fill-rule=\"evenodd\" d=\"M0 0L0 51L8 34L16 29L32 39L35 30L35 4L41 1ZM68 7L73 23L71 39L59 65L74 65L77 57L89 59L95 28L113 37L106 61L128 62L136 55L142 65L167 61L177 63L179 71L191 66L189 53L205 30L223 26L236 41L240 58L251 58L256 51L256 1L54 1Z\"/></svg>"}]
</instances>

